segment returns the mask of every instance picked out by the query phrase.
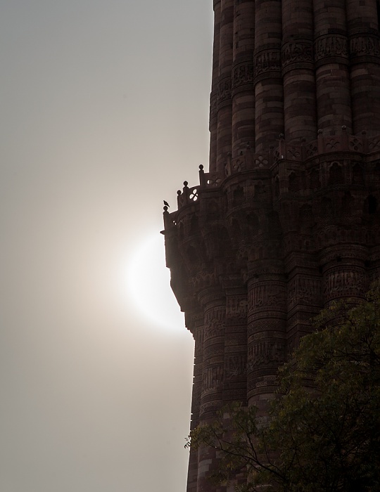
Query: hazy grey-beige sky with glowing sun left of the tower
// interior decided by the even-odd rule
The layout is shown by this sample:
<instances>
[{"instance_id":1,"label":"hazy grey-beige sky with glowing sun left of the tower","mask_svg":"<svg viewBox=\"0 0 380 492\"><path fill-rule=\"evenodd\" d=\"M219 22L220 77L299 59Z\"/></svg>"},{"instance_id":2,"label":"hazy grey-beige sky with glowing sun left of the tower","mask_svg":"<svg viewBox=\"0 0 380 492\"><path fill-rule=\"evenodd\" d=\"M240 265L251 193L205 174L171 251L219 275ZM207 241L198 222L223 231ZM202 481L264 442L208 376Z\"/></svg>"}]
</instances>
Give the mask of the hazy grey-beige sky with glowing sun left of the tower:
<instances>
[{"instance_id":1,"label":"hazy grey-beige sky with glowing sun left of the tower","mask_svg":"<svg viewBox=\"0 0 380 492\"><path fill-rule=\"evenodd\" d=\"M185 489L193 341L159 231L208 161L212 18L0 2L1 492Z\"/></svg>"}]
</instances>

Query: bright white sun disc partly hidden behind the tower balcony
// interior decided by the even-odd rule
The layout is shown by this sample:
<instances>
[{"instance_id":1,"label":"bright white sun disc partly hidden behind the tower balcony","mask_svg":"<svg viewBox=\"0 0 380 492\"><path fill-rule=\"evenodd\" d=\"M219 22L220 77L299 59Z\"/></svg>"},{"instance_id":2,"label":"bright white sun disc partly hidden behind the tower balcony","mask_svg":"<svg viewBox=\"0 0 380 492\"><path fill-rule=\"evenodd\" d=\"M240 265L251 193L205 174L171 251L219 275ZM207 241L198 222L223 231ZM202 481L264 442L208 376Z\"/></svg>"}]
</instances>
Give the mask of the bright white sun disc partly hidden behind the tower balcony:
<instances>
[{"instance_id":1,"label":"bright white sun disc partly hidden behind the tower balcony","mask_svg":"<svg viewBox=\"0 0 380 492\"><path fill-rule=\"evenodd\" d=\"M149 234L141 241L127 264L127 288L133 305L152 326L183 330L184 314L170 288L165 266L164 238Z\"/></svg>"}]
</instances>

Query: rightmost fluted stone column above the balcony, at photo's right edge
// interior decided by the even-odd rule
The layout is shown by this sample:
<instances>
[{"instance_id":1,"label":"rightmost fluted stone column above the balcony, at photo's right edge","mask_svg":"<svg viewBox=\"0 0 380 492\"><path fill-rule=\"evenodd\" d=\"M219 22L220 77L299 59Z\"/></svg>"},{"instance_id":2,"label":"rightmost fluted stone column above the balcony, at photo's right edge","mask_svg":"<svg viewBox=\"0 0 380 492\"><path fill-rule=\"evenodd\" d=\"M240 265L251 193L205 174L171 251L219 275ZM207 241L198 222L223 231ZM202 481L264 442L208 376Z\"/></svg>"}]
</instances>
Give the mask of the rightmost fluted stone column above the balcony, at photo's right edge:
<instances>
[{"instance_id":1,"label":"rightmost fluted stone column above the balcony, at photo's right edge","mask_svg":"<svg viewBox=\"0 0 380 492\"><path fill-rule=\"evenodd\" d=\"M380 133L380 42L376 0L347 0L353 133Z\"/></svg>"}]
</instances>

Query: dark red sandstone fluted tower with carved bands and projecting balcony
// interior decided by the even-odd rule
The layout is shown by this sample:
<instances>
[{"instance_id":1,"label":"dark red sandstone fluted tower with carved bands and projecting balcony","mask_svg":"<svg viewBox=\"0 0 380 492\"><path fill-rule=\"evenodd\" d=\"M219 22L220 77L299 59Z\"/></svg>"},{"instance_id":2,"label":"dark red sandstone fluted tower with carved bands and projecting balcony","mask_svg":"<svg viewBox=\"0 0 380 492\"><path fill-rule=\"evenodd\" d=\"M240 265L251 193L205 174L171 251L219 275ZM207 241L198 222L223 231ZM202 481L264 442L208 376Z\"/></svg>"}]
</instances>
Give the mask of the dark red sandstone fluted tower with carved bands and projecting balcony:
<instances>
[{"instance_id":1,"label":"dark red sandstone fluted tower with carved bands and projecting balcony","mask_svg":"<svg viewBox=\"0 0 380 492\"><path fill-rule=\"evenodd\" d=\"M214 0L210 167L164 207L195 339L191 427L265 412L278 366L334 299L380 276L379 0ZM217 457L191 453L188 492Z\"/></svg>"}]
</instances>

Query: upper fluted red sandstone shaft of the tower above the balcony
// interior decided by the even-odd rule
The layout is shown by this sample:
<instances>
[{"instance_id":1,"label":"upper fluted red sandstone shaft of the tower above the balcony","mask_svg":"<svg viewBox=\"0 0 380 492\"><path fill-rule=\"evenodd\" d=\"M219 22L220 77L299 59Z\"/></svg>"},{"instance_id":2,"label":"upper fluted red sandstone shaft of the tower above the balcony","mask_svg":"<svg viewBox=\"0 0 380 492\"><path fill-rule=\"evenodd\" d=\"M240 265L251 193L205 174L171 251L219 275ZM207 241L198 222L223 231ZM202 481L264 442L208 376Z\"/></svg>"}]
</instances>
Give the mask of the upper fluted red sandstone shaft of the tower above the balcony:
<instances>
[{"instance_id":1,"label":"upper fluted red sandstone shaft of the tower above the balcony","mask_svg":"<svg viewBox=\"0 0 380 492\"><path fill-rule=\"evenodd\" d=\"M214 0L210 171L280 134L380 132L376 0Z\"/></svg>"}]
</instances>

